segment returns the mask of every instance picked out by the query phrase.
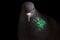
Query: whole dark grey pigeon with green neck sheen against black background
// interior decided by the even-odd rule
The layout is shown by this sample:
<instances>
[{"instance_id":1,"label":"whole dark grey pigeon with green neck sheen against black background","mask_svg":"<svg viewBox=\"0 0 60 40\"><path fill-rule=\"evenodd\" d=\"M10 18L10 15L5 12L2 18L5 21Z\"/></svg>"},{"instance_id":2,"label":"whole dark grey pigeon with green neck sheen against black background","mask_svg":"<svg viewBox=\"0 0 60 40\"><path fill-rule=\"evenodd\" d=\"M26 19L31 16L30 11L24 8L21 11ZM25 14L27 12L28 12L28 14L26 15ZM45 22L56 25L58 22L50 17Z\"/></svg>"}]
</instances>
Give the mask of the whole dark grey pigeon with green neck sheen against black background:
<instances>
[{"instance_id":1,"label":"whole dark grey pigeon with green neck sheen against black background","mask_svg":"<svg viewBox=\"0 0 60 40\"><path fill-rule=\"evenodd\" d=\"M19 40L55 40L58 23L39 12L32 2L22 4L18 23Z\"/></svg>"}]
</instances>

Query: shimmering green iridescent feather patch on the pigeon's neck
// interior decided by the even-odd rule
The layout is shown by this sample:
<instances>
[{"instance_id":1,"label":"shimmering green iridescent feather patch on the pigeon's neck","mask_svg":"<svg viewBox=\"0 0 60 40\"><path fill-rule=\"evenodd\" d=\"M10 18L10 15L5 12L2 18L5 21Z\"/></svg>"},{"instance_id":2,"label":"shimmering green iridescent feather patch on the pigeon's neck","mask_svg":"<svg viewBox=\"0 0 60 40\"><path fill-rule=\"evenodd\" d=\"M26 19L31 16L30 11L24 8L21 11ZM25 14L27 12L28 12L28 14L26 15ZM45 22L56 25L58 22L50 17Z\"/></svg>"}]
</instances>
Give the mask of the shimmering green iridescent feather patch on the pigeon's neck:
<instances>
[{"instance_id":1,"label":"shimmering green iridescent feather patch on the pigeon's neck","mask_svg":"<svg viewBox=\"0 0 60 40\"><path fill-rule=\"evenodd\" d=\"M46 21L43 18L36 17L35 19L33 19L33 22L37 26L36 31L40 31L45 28Z\"/></svg>"}]
</instances>

